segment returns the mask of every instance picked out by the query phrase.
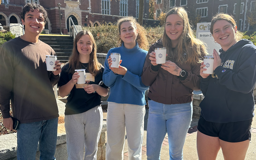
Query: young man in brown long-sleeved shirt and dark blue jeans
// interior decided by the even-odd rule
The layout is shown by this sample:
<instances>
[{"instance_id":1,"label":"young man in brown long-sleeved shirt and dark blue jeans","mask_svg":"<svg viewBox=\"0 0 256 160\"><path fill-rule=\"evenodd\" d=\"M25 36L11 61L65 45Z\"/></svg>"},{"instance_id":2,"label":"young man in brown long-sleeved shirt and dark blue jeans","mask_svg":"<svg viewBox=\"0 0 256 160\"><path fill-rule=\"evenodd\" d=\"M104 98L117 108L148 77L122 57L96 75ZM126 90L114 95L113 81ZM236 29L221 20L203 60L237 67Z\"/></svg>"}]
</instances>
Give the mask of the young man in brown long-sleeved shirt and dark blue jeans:
<instances>
[{"instance_id":1,"label":"young man in brown long-sleeved shirt and dark blue jeans","mask_svg":"<svg viewBox=\"0 0 256 160\"><path fill-rule=\"evenodd\" d=\"M13 116L20 121L17 129L18 160L35 160L39 141L40 160L53 160L58 127L58 106L52 86L59 81L61 63L56 71L47 71L46 55L53 49L38 39L44 29L47 12L38 4L26 4L20 13L25 34L0 47L0 108L3 124L12 130Z\"/></svg>"}]
</instances>

